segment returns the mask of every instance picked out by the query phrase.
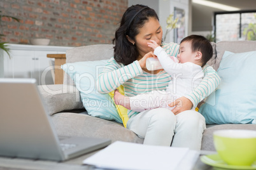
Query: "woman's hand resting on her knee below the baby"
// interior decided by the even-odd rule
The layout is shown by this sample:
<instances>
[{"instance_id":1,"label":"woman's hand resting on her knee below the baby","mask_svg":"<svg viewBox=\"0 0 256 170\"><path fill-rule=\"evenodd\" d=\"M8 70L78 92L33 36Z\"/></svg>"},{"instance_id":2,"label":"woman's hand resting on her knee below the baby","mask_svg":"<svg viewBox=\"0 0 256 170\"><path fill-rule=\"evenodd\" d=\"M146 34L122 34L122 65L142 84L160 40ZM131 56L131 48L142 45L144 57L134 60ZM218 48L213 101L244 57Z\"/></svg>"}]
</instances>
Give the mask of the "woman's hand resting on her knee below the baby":
<instances>
[{"instance_id":1,"label":"woman's hand resting on her knee below the baby","mask_svg":"<svg viewBox=\"0 0 256 170\"><path fill-rule=\"evenodd\" d=\"M190 110L193 107L193 103L188 98L180 97L170 103L169 107L174 107L171 111L174 115L177 115L185 110Z\"/></svg>"}]
</instances>

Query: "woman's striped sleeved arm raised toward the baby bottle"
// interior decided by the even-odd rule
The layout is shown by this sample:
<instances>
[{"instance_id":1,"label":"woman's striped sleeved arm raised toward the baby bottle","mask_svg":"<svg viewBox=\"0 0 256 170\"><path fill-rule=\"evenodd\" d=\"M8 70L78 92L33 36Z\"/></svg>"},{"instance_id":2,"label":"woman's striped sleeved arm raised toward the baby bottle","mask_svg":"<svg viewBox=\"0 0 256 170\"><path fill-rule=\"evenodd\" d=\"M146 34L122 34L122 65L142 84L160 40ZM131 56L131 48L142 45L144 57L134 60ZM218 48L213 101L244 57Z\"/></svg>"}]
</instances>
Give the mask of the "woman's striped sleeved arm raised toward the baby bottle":
<instances>
[{"instance_id":1,"label":"woman's striped sleeved arm raised toward the baby bottle","mask_svg":"<svg viewBox=\"0 0 256 170\"><path fill-rule=\"evenodd\" d=\"M97 91L102 94L110 93L127 80L142 73L143 71L137 60L124 66L117 63L114 58L111 58L104 67L103 72L99 74L96 82Z\"/></svg>"}]
</instances>

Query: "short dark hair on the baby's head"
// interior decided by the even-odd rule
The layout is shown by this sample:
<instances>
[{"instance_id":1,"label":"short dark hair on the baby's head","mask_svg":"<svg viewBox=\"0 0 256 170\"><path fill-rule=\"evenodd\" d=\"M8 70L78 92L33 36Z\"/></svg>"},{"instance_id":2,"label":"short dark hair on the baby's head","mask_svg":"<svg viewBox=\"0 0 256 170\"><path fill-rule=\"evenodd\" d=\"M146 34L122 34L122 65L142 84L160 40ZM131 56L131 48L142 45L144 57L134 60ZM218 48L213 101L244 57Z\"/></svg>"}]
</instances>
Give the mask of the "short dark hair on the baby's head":
<instances>
[{"instance_id":1,"label":"short dark hair on the baby's head","mask_svg":"<svg viewBox=\"0 0 256 170\"><path fill-rule=\"evenodd\" d=\"M206 37L198 35L187 36L181 40L180 44L185 41L191 42L192 52L200 51L202 53L201 66L204 67L213 56L213 46L211 46L211 42L208 41Z\"/></svg>"}]
</instances>

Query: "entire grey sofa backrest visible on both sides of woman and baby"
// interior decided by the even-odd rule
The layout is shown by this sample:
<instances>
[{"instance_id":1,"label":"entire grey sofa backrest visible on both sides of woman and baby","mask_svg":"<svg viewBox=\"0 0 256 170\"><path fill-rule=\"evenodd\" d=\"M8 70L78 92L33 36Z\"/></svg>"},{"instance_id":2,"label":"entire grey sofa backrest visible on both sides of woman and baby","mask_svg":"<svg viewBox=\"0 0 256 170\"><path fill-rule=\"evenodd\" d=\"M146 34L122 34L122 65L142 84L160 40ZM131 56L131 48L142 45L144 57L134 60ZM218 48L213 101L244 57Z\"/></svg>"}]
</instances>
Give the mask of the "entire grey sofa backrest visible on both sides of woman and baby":
<instances>
[{"instance_id":1,"label":"entire grey sofa backrest visible on both sides of woman and baby","mask_svg":"<svg viewBox=\"0 0 256 170\"><path fill-rule=\"evenodd\" d=\"M218 70L225 51L232 53L256 51L256 41L220 41L211 42L211 45L213 46L213 57L209 60L208 65L211 65L215 70ZM66 51L66 63L108 60L112 56L113 44L81 46ZM63 84L73 84L73 80L66 73Z\"/></svg>"}]
</instances>

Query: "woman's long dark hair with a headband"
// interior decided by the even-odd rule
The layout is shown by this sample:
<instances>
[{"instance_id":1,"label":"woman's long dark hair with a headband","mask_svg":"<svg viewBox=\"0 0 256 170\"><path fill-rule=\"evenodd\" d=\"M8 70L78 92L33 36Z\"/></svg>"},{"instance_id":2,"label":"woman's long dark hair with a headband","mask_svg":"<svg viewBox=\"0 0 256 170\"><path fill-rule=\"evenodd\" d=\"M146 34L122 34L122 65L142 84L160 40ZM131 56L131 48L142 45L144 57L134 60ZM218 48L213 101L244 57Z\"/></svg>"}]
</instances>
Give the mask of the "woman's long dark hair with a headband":
<instances>
[{"instance_id":1,"label":"woman's long dark hair with a headband","mask_svg":"<svg viewBox=\"0 0 256 170\"><path fill-rule=\"evenodd\" d=\"M159 20L155 10L148 6L136 4L127 8L113 39L114 58L118 63L129 65L138 59L139 53L136 44L129 42L127 36L134 41L135 36L139 34L139 29L151 17Z\"/></svg>"}]
</instances>

